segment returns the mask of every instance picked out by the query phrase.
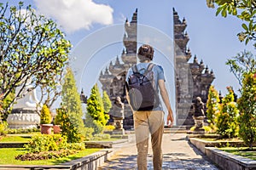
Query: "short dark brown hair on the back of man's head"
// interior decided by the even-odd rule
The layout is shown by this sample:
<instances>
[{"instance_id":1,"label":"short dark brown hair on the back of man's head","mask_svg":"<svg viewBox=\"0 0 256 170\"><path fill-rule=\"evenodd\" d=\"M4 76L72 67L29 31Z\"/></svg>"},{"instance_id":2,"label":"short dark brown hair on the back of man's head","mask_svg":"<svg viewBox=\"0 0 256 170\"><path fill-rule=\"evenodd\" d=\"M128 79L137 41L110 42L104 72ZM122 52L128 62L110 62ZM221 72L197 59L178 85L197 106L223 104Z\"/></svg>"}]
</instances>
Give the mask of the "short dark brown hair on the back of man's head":
<instances>
[{"instance_id":1,"label":"short dark brown hair on the back of man's head","mask_svg":"<svg viewBox=\"0 0 256 170\"><path fill-rule=\"evenodd\" d=\"M154 48L152 48L148 44L143 44L137 52L137 57L140 59L140 62L146 61L146 60L152 60L154 56Z\"/></svg>"}]
</instances>

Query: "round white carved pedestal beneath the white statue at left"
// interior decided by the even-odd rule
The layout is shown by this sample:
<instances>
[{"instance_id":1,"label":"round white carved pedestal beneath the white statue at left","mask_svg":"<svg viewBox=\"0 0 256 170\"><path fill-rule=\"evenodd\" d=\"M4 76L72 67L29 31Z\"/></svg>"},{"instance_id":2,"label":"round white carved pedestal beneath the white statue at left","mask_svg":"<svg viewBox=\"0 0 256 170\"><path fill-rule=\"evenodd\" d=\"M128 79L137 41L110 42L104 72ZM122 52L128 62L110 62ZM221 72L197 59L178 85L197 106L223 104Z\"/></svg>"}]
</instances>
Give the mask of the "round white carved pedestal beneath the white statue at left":
<instances>
[{"instance_id":1,"label":"round white carved pedestal beneath the white statue at left","mask_svg":"<svg viewBox=\"0 0 256 170\"><path fill-rule=\"evenodd\" d=\"M38 127L40 116L32 110L13 110L7 118L9 128L33 128Z\"/></svg>"}]
</instances>

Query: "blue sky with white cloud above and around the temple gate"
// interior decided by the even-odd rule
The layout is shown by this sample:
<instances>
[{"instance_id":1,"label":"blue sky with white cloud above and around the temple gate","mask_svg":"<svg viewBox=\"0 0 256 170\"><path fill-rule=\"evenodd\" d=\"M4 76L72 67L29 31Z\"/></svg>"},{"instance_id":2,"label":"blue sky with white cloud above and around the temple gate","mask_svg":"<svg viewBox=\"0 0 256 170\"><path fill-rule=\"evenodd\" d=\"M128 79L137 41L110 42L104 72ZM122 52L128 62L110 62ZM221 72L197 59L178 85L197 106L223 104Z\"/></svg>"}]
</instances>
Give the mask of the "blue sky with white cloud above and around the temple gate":
<instances>
[{"instance_id":1,"label":"blue sky with white cloud above and around the temple gate","mask_svg":"<svg viewBox=\"0 0 256 170\"><path fill-rule=\"evenodd\" d=\"M10 4L18 3L16 0L8 2ZM141 25L141 28L145 26L151 31L161 32L161 35L165 35L170 40L173 37L172 8L176 9L181 20L185 17L188 24L186 31L190 38L188 47L193 55L192 59L196 54L199 60L203 59L204 64L213 70L216 79L212 84L221 90L222 94L226 94L227 86L233 86L237 94L239 88L236 78L230 73L229 67L225 65L227 59L244 49L254 52L252 45L245 46L244 42L239 42L236 37L236 34L242 31L241 20L233 16L216 17L216 8L207 8L206 0L26 0L26 4L28 3L31 3L38 12L56 20L61 29L65 31L67 39L73 44L74 54L71 54L75 58L73 60L83 57L90 58L87 63L79 65L79 67L83 67L83 72L80 72L83 77L78 81L78 87L79 90L84 88L87 95L90 94L90 88L97 80L96 75L108 65L110 60L114 60L117 55L121 54L124 34L121 30L122 25L125 23L126 17L131 20L131 15L136 8L138 9L138 24ZM111 26L117 28L116 34L113 34L115 32L113 29L112 34L107 33L104 36L111 40L113 37L116 42L98 49L93 57L88 56L88 51L84 50L89 49L90 45L101 44L99 34L108 31ZM88 42L89 40L90 42ZM84 41L86 48L85 46L81 48ZM78 48L84 56L76 55L75 50ZM160 50L159 52L156 53L156 57L158 54L161 55ZM160 64L166 63L165 57L159 57L156 60ZM168 87L174 88L172 66L166 65L166 67L164 68L166 74L171 72L171 76L168 75L168 79L170 79ZM170 96L173 95L171 89Z\"/></svg>"}]
</instances>

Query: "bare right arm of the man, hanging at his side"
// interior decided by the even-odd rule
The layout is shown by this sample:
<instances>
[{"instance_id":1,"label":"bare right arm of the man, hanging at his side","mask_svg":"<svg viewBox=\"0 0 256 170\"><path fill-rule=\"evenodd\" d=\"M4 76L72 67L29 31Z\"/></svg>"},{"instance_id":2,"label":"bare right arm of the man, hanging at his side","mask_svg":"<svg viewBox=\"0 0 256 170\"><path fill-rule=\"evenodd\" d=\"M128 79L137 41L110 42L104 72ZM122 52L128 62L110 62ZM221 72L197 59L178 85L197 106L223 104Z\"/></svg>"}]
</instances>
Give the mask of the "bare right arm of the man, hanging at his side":
<instances>
[{"instance_id":1,"label":"bare right arm of the man, hanging at his side","mask_svg":"<svg viewBox=\"0 0 256 170\"><path fill-rule=\"evenodd\" d=\"M172 107L170 104L170 100L169 100L169 96L166 90L166 84L165 81L163 79L160 79L158 81L159 84L159 88L160 88L160 94L162 96L162 99L166 105L166 108L168 110L168 116L167 116L167 125L168 127L172 127L174 119L173 119L173 113L172 113Z\"/></svg>"}]
</instances>

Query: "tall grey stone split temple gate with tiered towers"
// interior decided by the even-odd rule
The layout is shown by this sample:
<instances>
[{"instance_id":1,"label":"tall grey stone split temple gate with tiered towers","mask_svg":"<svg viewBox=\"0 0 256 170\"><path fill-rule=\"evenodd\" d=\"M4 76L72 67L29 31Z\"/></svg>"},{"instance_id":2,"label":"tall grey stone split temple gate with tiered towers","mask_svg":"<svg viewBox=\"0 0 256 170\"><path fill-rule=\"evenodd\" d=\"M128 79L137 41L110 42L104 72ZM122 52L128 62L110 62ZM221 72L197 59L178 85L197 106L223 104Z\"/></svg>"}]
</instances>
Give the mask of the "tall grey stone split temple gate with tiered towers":
<instances>
[{"instance_id":1,"label":"tall grey stone split temple gate with tiered towers","mask_svg":"<svg viewBox=\"0 0 256 170\"><path fill-rule=\"evenodd\" d=\"M212 71L205 67L203 61L198 62L196 56L189 63L191 52L187 48L189 36L185 31L186 20L179 20L179 16L173 8L174 31L174 66L176 83L176 124L193 126L193 112L190 106L196 97L201 97L207 102L208 89L214 79ZM133 127L133 117L130 106L125 98L125 75L131 65L137 64L137 9L132 15L131 21L125 20L125 36L123 37L124 49L119 58L110 62L106 70L101 71L99 81L102 82L102 90L105 90L112 102L120 97L125 104L124 128ZM165 70L168 71L168 70ZM113 110L109 112L114 115Z\"/></svg>"}]
</instances>

